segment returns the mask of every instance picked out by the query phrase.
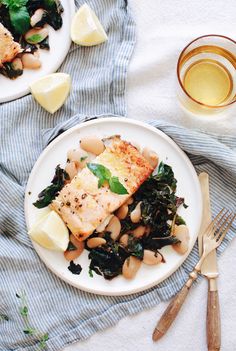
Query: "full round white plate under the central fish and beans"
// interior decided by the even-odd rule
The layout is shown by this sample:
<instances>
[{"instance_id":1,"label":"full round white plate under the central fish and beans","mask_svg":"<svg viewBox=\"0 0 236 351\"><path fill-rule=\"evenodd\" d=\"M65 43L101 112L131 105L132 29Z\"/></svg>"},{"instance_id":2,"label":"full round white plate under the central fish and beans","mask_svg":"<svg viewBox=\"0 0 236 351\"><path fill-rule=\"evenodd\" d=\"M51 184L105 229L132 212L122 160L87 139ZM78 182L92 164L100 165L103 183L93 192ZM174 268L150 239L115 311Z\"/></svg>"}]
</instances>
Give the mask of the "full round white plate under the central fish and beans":
<instances>
[{"instance_id":1,"label":"full round white plate under the central fish and beans","mask_svg":"<svg viewBox=\"0 0 236 351\"><path fill-rule=\"evenodd\" d=\"M62 253L49 251L36 243L33 244L46 266L69 284L97 294L126 295L150 288L175 272L187 258L198 235L202 213L202 198L198 177L185 153L167 135L145 123L114 117L89 121L69 129L49 144L37 160L26 188L25 216L29 228L35 222L39 211L41 211L34 207L32 203L36 201L38 193L49 185L56 165L60 164L62 167L65 165L67 150L78 147L81 137L88 135L107 137L114 134L120 134L123 139L136 142L141 147L148 146L156 150L160 160L173 167L178 180L177 194L183 196L185 202L189 205L187 209L181 208L179 211L190 230L189 251L181 256L172 247L166 246L161 250L166 263L158 266L142 264L135 279L131 281L124 279L122 276L107 281L96 273L93 274L93 278L89 276L88 251L85 250L76 260L76 263L80 263L83 268L81 274L73 275L67 269L68 262Z\"/></svg>"}]
</instances>

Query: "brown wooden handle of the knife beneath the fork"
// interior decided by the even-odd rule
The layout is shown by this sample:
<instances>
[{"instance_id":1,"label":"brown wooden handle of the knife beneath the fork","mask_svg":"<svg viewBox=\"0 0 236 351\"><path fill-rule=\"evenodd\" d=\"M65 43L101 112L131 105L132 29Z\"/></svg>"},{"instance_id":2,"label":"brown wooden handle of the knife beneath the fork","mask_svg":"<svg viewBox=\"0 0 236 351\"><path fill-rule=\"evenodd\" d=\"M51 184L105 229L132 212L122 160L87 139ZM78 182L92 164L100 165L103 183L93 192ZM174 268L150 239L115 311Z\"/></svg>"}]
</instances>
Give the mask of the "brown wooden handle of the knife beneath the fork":
<instances>
[{"instance_id":1,"label":"brown wooden handle of the knife beneath the fork","mask_svg":"<svg viewBox=\"0 0 236 351\"><path fill-rule=\"evenodd\" d=\"M207 346L208 351L219 351L221 346L220 305L217 288L211 289L212 280L209 279L207 300Z\"/></svg>"}]
</instances>

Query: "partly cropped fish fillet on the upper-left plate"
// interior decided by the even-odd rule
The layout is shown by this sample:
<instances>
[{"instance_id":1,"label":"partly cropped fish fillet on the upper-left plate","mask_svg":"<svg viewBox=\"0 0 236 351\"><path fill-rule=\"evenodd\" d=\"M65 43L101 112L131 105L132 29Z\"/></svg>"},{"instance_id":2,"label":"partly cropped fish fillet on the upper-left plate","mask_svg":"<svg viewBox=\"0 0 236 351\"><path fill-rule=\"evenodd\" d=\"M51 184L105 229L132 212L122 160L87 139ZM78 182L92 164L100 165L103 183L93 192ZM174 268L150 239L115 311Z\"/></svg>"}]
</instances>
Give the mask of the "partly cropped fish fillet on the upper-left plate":
<instances>
[{"instance_id":1,"label":"partly cropped fish fillet on the upper-left plate","mask_svg":"<svg viewBox=\"0 0 236 351\"><path fill-rule=\"evenodd\" d=\"M0 67L4 62L11 62L22 51L20 44L13 40L13 36L0 23Z\"/></svg>"}]
</instances>

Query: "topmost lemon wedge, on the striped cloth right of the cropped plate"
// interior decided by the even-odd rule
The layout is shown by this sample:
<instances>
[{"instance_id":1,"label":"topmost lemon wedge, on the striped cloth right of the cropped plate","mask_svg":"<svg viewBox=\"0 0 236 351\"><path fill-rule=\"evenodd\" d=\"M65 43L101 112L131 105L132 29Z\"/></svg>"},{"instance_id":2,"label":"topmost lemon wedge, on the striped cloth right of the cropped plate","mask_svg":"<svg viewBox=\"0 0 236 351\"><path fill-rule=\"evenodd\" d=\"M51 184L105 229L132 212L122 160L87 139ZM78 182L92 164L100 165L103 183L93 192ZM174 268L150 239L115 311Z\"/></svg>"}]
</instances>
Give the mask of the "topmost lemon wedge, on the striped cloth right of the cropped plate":
<instances>
[{"instance_id":1,"label":"topmost lemon wedge, on the striped cloth right of the cropped plate","mask_svg":"<svg viewBox=\"0 0 236 351\"><path fill-rule=\"evenodd\" d=\"M72 20L71 39L83 46L98 45L107 40L103 26L87 4L79 8Z\"/></svg>"}]
</instances>

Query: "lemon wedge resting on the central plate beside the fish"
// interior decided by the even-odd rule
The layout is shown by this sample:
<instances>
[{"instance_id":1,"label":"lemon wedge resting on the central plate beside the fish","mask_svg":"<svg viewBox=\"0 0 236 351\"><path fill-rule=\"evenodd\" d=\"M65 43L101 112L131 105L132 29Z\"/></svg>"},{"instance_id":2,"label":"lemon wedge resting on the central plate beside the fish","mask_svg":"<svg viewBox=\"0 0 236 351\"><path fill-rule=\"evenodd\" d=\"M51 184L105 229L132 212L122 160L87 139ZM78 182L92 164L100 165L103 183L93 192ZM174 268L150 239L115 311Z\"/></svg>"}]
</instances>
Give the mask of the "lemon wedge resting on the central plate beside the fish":
<instances>
[{"instance_id":1,"label":"lemon wedge resting on the central plate beside the fish","mask_svg":"<svg viewBox=\"0 0 236 351\"><path fill-rule=\"evenodd\" d=\"M29 230L29 236L49 250L65 251L69 244L69 231L55 211L50 211L36 221Z\"/></svg>"}]
</instances>

